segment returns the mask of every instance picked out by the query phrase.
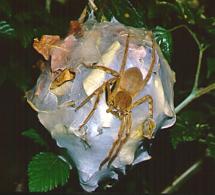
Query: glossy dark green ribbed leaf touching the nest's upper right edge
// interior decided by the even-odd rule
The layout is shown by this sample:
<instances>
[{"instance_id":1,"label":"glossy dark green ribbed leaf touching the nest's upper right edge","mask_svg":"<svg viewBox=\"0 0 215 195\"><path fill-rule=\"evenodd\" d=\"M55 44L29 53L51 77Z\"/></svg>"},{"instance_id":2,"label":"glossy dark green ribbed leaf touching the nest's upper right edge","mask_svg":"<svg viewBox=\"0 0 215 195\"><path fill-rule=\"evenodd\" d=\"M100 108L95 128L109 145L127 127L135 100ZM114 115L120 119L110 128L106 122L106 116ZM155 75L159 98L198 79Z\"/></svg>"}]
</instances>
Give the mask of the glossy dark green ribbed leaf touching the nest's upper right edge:
<instances>
[{"instance_id":1,"label":"glossy dark green ribbed leaf touching the nest's upper right edge","mask_svg":"<svg viewBox=\"0 0 215 195\"><path fill-rule=\"evenodd\" d=\"M171 61L172 56L172 35L161 26L156 26L153 30L155 40L160 45L161 50L168 62Z\"/></svg>"}]
</instances>

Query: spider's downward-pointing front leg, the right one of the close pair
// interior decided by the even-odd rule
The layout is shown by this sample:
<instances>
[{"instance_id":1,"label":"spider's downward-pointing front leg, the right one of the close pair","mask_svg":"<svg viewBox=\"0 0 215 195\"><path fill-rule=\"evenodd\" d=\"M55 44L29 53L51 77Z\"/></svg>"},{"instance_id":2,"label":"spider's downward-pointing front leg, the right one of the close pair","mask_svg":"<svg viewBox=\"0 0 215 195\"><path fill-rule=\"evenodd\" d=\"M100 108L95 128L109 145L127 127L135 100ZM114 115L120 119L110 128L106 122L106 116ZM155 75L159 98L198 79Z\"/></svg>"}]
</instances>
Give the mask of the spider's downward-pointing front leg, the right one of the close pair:
<instances>
[{"instance_id":1,"label":"spider's downward-pointing front leg, the right one of the close pair","mask_svg":"<svg viewBox=\"0 0 215 195\"><path fill-rule=\"evenodd\" d=\"M131 120L131 114L126 116L126 133L124 135L124 137L121 138L121 141L119 142L119 145L116 149L115 154L110 158L109 162L108 162L108 167L111 165L111 163L114 161L114 159L117 157L119 151L121 150L122 146L126 143L126 141L129 138L129 135L131 133L131 125L132 125L132 120Z\"/></svg>"}]
</instances>

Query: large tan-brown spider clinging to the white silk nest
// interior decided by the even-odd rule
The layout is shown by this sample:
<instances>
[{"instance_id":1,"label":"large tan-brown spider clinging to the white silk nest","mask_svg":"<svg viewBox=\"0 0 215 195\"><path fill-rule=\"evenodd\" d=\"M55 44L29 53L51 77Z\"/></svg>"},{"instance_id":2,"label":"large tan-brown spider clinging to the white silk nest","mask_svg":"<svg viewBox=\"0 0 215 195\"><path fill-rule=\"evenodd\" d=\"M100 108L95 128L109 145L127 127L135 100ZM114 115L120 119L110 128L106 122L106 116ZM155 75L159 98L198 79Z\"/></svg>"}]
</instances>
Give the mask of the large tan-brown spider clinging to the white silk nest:
<instances>
[{"instance_id":1,"label":"large tan-brown spider clinging to the white silk nest","mask_svg":"<svg viewBox=\"0 0 215 195\"><path fill-rule=\"evenodd\" d=\"M143 75L139 68L132 67L125 70L127 55L128 55L128 48L129 48L129 38L130 34L126 34L126 44L125 50L120 66L119 72L108 68L106 66L91 64L87 65L84 64L87 68L93 69L100 69L105 71L108 74L111 74L113 77L109 80L105 81L100 87L98 87L91 95L86 97L81 104L76 107L76 110L80 109L84 106L93 96L96 96L94 105L92 110L89 112L83 123L79 126L81 129L92 117L94 114L100 97L103 92L106 92L106 104L108 105L108 109L106 112L112 113L114 116L119 118L121 121L117 139L112 144L111 149L109 150L108 155L106 158L101 162L99 169L101 169L107 162L108 167L111 165L113 160L117 157L121 147L123 144L126 143L132 126L132 109L137 107L138 105L148 102L149 105L149 117L143 122L143 129L148 128L147 130L144 129L144 132L147 132L144 135L146 138L152 137L153 129L155 128L156 124L153 119L153 99L150 95L146 95L136 101L133 101L133 98L136 97L142 89L146 86L147 82L149 81L154 64L155 64L155 43L152 41L152 57L151 57L151 64L148 70L146 77L143 79Z\"/></svg>"}]
</instances>

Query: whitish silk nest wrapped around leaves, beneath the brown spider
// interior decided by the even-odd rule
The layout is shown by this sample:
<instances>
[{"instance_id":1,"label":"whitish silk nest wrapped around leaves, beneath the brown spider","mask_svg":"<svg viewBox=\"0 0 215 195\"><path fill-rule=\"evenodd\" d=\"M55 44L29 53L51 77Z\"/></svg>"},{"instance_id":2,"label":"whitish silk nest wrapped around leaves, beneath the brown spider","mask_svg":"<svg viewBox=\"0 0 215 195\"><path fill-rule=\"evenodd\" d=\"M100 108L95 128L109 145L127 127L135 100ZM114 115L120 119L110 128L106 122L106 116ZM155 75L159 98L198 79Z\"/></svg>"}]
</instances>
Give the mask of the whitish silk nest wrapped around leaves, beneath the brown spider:
<instances>
[{"instance_id":1,"label":"whitish silk nest wrapped around leaves, beneath the brown spider","mask_svg":"<svg viewBox=\"0 0 215 195\"><path fill-rule=\"evenodd\" d=\"M125 26L116 20L98 23L93 18L82 26L82 35L70 34L61 40L66 54L51 50L50 65L39 76L35 87L26 93L28 103L38 112L41 124L50 132L59 147L66 148L79 174L80 184L85 191L94 191L106 179L118 179L126 166L151 158L145 144L143 121L148 117L148 105L143 103L132 110L131 134L110 167L99 170L117 138L120 120L107 113L106 94L103 93L95 113L88 123L78 129L92 109L95 97L79 110L79 105L95 89L112 75L87 68L85 64L101 64L119 71L125 51L126 34L131 34L125 69L137 67L143 78L146 76L152 56L152 36L144 28ZM61 53L60 53L61 52ZM75 78L51 88L54 73L65 69L75 72ZM155 65L152 75L134 101L150 95L153 98L153 119L158 130L171 127L176 120L173 103L174 72L155 43Z\"/></svg>"}]
</instances>

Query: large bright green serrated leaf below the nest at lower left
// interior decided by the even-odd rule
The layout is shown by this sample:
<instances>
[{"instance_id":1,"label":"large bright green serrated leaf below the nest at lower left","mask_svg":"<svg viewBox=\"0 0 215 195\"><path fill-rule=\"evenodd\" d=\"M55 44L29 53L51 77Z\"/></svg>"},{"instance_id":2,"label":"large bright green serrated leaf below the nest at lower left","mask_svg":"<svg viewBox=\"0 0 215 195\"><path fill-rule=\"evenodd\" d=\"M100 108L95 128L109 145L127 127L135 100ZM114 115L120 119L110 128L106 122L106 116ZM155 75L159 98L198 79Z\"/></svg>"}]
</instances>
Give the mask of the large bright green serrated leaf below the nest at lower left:
<instances>
[{"instance_id":1,"label":"large bright green serrated leaf below the nest at lower left","mask_svg":"<svg viewBox=\"0 0 215 195\"><path fill-rule=\"evenodd\" d=\"M29 191L47 192L63 186L69 178L69 165L59 156L41 152L28 165Z\"/></svg>"}]
</instances>

